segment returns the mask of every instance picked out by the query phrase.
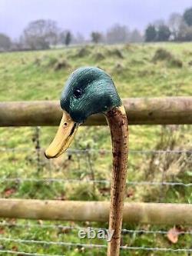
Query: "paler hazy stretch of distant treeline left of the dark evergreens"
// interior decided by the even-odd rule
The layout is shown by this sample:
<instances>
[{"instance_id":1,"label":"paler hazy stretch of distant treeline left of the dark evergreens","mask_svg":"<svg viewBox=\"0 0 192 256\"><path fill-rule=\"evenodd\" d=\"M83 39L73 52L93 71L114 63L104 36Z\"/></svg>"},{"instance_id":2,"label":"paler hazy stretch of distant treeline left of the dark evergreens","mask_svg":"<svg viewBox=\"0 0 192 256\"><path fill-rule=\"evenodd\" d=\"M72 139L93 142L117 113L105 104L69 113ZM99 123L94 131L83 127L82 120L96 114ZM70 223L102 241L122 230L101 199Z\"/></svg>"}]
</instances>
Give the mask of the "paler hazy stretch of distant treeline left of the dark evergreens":
<instances>
[{"instance_id":1,"label":"paler hazy stretch of distant treeline left of the dark evergreens","mask_svg":"<svg viewBox=\"0 0 192 256\"><path fill-rule=\"evenodd\" d=\"M125 25L115 24L106 33L91 32L90 38L74 35L70 30L61 30L57 22L37 20L30 22L17 42L12 42L8 35L0 34L0 51L41 50L61 45L86 45L89 43L117 44L125 42L143 42L144 36L137 29L131 31Z\"/></svg>"}]
</instances>

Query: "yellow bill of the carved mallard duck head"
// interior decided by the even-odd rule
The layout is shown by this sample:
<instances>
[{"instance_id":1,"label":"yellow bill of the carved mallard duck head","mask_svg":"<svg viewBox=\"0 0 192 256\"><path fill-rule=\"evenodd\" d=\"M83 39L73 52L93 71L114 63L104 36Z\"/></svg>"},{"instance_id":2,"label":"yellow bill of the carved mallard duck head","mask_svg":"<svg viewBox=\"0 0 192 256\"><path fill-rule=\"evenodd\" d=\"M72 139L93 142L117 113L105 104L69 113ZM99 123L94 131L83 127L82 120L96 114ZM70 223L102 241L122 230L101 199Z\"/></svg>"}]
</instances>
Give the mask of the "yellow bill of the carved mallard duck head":
<instances>
[{"instance_id":1,"label":"yellow bill of the carved mallard duck head","mask_svg":"<svg viewBox=\"0 0 192 256\"><path fill-rule=\"evenodd\" d=\"M51 145L45 151L46 158L58 158L71 144L79 124L74 122L68 112L63 112L63 117Z\"/></svg>"}]
</instances>

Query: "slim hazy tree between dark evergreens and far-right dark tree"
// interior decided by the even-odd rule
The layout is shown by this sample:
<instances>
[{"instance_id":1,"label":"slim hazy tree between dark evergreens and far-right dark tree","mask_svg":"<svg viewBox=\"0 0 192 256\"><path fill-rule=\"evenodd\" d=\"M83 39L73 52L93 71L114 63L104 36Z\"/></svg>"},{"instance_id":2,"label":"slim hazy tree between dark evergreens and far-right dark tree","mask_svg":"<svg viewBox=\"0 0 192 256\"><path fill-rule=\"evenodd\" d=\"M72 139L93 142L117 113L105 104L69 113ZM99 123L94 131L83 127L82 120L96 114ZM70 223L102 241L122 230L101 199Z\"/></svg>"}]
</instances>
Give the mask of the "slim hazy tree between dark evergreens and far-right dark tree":
<instances>
[{"instance_id":1,"label":"slim hazy tree between dark evergreens and far-right dark tree","mask_svg":"<svg viewBox=\"0 0 192 256\"><path fill-rule=\"evenodd\" d=\"M170 15L168 25L174 41L178 40L181 22L183 22L183 17L179 13L172 13Z\"/></svg>"}]
</instances>

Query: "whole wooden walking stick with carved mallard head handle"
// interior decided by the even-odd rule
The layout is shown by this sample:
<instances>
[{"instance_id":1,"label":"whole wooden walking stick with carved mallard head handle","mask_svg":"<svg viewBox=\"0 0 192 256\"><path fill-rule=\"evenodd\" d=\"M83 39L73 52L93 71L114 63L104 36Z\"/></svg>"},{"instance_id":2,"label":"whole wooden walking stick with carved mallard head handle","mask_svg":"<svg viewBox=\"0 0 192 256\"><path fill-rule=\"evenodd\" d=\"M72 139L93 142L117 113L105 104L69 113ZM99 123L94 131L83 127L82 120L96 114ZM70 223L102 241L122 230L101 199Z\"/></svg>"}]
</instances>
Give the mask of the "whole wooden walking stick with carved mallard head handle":
<instances>
[{"instance_id":1,"label":"whole wooden walking stick with carved mallard head handle","mask_svg":"<svg viewBox=\"0 0 192 256\"><path fill-rule=\"evenodd\" d=\"M108 244L108 256L118 256L127 172L127 116L111 77L99 68L78 68L68 78L61 94L63 117L58 133L45 151L56 158L71 144L74 134L90 115L105 115L111 131L113 170L111 175L111 208L109 231L114 232Z\"/></svg>"}]
</instances>

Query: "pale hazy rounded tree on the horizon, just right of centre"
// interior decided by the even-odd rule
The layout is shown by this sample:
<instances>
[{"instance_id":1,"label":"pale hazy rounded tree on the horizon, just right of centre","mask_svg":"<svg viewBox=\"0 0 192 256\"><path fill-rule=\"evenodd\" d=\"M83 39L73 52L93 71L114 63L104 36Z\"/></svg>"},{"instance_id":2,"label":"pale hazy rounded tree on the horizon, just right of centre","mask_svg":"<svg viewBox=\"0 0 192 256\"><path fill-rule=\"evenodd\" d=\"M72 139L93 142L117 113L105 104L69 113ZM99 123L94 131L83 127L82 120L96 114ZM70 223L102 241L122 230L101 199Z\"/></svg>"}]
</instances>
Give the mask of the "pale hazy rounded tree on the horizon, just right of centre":
<instances>
[{"instance_id":1,"label":"pale hazy rounded tree on the horizon, just right of centre","mask_svg":"<svg viewBox=\"0 0 192 256\"><path fill-rule=\"evenodd\" d=\"M116 24L108 30L106 41L109 44L125 43L129 41L129 37L129 29L126 26Z\"/></svg>"}]
</instances>

